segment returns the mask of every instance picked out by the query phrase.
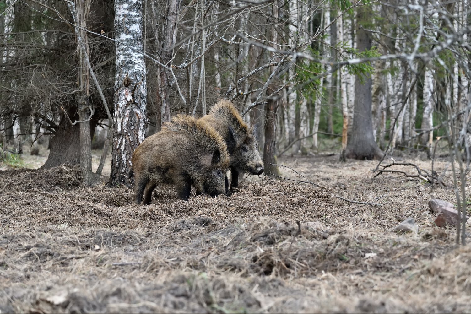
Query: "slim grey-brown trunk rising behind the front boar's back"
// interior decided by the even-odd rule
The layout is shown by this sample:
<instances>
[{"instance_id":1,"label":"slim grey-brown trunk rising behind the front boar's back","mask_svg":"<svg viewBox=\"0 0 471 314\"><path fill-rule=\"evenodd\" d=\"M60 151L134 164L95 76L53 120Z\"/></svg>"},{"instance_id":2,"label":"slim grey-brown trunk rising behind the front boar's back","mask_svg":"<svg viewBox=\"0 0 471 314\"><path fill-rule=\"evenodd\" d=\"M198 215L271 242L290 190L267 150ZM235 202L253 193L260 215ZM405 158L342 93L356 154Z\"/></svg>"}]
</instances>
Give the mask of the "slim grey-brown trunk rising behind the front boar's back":
<instances>
[{"instance_id":1,"label":"slim grey-brown trunk rising behind the front boar's back","mask_svg":"<svg viewBox=\"0 0 471 314\"><path fill-rule=\"evenodd\" d=\"M165 39L163 46L160 50L160 62L166 66L170 66L170 61L173 56L173 49L175 40L177 38L177 21L180 8L180 0L169 0L165 25ZM159 95L160 100L160 125L170 121L170 93L169 93L169 73L168 70L159 65ZM188 104L189 105L189 104Z\"/></svg>"}]
</instances>

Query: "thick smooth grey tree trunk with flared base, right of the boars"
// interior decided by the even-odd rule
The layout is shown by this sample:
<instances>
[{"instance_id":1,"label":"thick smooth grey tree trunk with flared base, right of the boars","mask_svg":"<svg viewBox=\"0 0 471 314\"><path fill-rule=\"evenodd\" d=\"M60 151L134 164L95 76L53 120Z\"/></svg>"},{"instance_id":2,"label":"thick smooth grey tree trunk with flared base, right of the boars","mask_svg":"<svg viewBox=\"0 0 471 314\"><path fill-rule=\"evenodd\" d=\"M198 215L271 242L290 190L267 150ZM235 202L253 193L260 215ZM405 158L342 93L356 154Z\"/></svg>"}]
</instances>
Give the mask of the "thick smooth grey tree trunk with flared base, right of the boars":
<instances>
[{"instance_id":1,"label":"thick smooth grey tree trunk with flared base, right of the boars","mask_svg":"<svg viewBox=\"0 0 471 314\"><path fill-rule=\"evenodd\" d=\"M357 21L366 19L365 8L358 11ZM357 23L357 48L362 52L371 48L371 38L368 33ZM383 153L374 141L373 122L371 114L371 76L355 77L355 101L351 138L347 144L345 157L353 159L382 158Z\"/></svg>"}]
</instances>

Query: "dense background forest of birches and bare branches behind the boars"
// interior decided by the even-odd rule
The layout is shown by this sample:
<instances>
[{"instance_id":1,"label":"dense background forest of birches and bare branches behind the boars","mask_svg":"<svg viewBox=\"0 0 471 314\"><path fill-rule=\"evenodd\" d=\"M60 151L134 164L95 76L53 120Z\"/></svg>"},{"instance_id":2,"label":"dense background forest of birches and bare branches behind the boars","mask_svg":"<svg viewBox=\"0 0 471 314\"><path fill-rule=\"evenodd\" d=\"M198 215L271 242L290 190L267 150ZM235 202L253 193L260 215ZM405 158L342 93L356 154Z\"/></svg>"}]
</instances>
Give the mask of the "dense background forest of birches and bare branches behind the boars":
<instances>
[{"instance_id":1,"label":"dense background forest of birches and bare branches behind the boars","mask_svg":"<svg viewBox=\"0 0 471 314\"><path fill-rule=\"evenodd\" d=\"M116 63L120 3L0 4L4 150L21 153L49 135L44 168L77 163L81 124L91 138L97 125L111 126L119 72L130 71ZM430 156L436 136L469 147L467 1L122 4L143 21L127 47L143 49L147 135L173 114L201 116L227 98L257 124L260 146L276 143L267 160L337 140L358 159L394 149Z\"/></svg>"}]
</instances>

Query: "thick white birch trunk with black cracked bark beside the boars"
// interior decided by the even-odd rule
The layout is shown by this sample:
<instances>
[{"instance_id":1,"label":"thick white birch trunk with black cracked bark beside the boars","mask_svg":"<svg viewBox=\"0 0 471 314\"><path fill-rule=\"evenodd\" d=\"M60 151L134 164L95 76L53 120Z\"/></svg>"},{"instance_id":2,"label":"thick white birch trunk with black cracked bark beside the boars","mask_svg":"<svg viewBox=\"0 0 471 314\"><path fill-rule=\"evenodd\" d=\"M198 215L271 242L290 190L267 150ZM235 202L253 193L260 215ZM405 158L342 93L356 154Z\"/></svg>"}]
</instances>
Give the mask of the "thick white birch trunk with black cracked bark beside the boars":
<instances>
[{"instance_id":1,"label":"thick white birch trunk with black cracked bark beside the boars","mask_svg":"<svg viewBox=\"0 0 471 314\"><path fill-rule=\"evenodd\" d=\"M142 0L115 0L116 79L109 185L126 184L130 158L147 132Z\"/></svg>"}]
</instances>

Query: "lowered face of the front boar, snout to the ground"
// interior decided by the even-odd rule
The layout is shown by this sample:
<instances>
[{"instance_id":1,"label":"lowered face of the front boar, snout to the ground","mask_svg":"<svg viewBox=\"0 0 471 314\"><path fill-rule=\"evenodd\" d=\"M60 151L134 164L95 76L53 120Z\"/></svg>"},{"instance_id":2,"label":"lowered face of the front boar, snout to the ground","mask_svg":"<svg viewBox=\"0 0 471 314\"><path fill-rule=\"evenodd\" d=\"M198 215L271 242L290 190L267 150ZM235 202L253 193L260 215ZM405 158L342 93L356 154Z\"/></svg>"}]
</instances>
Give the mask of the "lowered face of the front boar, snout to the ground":
<instances>
[{"instance_id":1,"label":"lowered face of the front boar, snout to the ground","mask_svg":"<svg viewBox=\"0 0 471 314\"><path fill-rule=\"evenodd\" d=\"M208 156L204 164L203 193L216 197L219 194L226 194L226 172L227 162L221 162L221 153L218 149L212 156Z\"/></svg>"}]
</instances>

